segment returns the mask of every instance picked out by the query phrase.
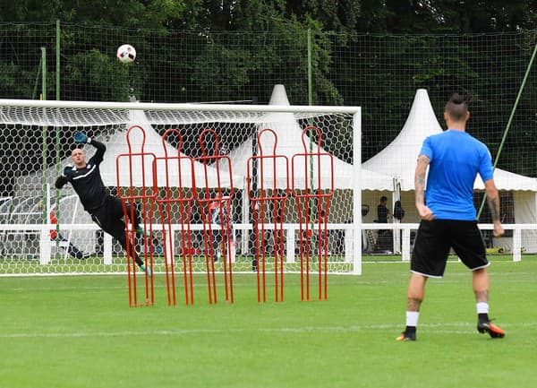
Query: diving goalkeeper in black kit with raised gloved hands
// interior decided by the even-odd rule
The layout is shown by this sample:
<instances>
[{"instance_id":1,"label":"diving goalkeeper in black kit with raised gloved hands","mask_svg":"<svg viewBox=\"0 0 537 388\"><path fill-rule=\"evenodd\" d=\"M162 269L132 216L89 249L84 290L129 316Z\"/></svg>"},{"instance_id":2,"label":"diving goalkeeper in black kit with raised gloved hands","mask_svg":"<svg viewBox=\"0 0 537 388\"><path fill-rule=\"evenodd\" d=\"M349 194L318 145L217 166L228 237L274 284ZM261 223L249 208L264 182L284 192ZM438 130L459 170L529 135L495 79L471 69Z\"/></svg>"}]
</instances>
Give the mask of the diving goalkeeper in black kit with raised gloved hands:
<instances>
[{"instance_id":1,"label":"diving goalkeeper in black kit with raised gloved hands","mask_svg":"<svg viewBox=\"0 0 537 388\"><path fill-rule=\"evenodd\" d=\"M72 150L71 160L73 165L65 166L63 174L55 181L55 187L61 189L64 185L70 183L81 199L84 210L90 213L91 220L97 223L109 235L115 237L126 251L127 239L125 237L123 205L119 198L108 194L98 168L103 161L107 147L102 142L91 139L82 132L77 132L74 135L74 141L82 144L90 144L97 149L97 152L86 162L86 153L81 148ZM130 204L126 205L126 209L127 214L132 214ZM136 209L134 209L133 213L134 220L132 220L132 225L134 225L137 234L143 235L144 230L140 226L140 214ZM147 269L145 268L144 262L136 253L134 245L132 245L132 255L141 270L147 272L148 276L151 276L149 267Z\"/></svg>"}]
</instances>

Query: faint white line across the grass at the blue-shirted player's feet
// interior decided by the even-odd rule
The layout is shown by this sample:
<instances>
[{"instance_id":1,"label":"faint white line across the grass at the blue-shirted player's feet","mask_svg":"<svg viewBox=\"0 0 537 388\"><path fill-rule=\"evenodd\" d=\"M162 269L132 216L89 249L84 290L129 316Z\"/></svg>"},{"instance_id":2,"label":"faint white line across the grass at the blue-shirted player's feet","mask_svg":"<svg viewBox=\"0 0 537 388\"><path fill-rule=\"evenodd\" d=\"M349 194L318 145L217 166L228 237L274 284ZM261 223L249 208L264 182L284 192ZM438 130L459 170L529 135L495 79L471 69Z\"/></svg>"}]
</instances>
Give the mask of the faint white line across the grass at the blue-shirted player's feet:
<instances>
[{"instance_id":1,"label":"faint white line across the grass at the blue-shirted player's feet","mask_svg":"<svg viewBox=\"0 0 537 388\"><path fill-rule=\"evenodd\" d=\"M434 330L434 332L453 333L453 334L473 334L475 333L473 323L428 323L421 324L420 328L446 328L453 327L453 330ZM516 327L533 327L537 323L504 323L502 327L513 329ZM373 332L373 331L396 331L401 329L402 323L397 324L371 324L371 325L352 325L352 326L305 326L305 327L279 327L279 328L243 328L243 329L186 329L186 330L157 330L141 332L13 332L0 333L2 339L24 339L24 338L93 338L93 337L130 337L130 336L185 336L192 334L226 334L229 332ZM468 330L461 330L468 328ZM458 330L457 330L458 329Z\"/></svg>"}]
</instances>

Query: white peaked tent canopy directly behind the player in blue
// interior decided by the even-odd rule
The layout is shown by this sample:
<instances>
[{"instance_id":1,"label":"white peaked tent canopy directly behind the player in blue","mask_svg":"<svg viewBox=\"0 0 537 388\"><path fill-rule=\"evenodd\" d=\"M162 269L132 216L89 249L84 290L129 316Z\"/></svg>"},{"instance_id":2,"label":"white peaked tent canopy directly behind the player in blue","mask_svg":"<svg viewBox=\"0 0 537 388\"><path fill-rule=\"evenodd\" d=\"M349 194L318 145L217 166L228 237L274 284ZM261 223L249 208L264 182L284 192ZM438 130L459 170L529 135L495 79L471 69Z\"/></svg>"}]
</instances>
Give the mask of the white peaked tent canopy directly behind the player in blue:
<instances>
[{"instance_id":1,"label":"white peaked tent canopy directly behind the player in blue","mask_svg":"<svg viewBox=\"0 0 537 388\"><path fill-rule=\"evenodd\" d=\"M431 134L439 134L442 128L430 105L429 95L424 89L416 92L405 126L393 142L377 155L363 163L362 167L379 174L399 179L402 191L414 189L416 159L422 142ZM494 171L494 181L499 190L530 190L537 192L537 179L524 177L500 168ZM382 190L371 185L371 190ZM481 177L477 177L475 189L484 189Z\"/></svg>"}]
</instances>

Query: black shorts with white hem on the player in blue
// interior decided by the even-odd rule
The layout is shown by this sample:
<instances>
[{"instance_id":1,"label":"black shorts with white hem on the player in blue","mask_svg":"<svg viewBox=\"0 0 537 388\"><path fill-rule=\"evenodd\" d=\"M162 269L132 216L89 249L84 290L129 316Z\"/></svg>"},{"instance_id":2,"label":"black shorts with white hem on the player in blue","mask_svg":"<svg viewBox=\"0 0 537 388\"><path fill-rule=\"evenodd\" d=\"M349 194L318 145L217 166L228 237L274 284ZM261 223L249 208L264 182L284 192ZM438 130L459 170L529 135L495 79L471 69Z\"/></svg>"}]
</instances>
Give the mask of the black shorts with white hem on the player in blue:
<instances>
[{"instance_id":1,"label":"black shorts with white hem on the player in blue","mask_svg":"<svg viewBox=\"0 0 537 388\"><path fill-rule=\"evenodd\" d=\"M450 247L472 271L490 264L477 221L422 220L413 247L411 271L442 277Z\"/></svg>"}]
</instances>

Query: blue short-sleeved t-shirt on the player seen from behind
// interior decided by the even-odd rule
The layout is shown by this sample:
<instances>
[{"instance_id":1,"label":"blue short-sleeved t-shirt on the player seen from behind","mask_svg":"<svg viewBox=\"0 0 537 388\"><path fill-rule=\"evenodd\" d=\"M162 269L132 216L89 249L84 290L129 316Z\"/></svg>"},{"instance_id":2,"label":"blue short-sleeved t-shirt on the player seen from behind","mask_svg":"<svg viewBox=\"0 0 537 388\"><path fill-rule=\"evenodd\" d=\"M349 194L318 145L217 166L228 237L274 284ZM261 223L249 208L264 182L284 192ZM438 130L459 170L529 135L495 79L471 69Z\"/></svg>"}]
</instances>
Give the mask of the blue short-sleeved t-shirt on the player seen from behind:
<instances>
[{"instance_id":1,"label":"blue short-sleeved t-shirt on the player seen from behind","mask_svg":"<svg viewBox=\"0 0 537 388\"><path fill-rule=\"evenodd\" d=\"M493 177L492 158L485 144L472 135L448 129L429 136L420 155L430 159L425 202L438 220L475 220L473 182Z\"/></svg>"}]
</instances>

